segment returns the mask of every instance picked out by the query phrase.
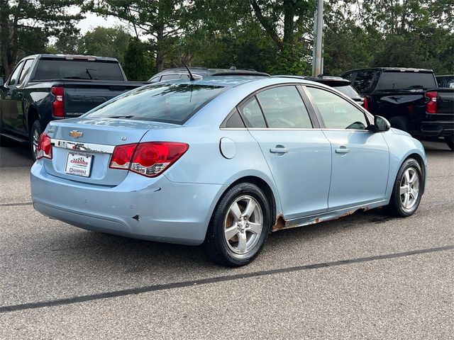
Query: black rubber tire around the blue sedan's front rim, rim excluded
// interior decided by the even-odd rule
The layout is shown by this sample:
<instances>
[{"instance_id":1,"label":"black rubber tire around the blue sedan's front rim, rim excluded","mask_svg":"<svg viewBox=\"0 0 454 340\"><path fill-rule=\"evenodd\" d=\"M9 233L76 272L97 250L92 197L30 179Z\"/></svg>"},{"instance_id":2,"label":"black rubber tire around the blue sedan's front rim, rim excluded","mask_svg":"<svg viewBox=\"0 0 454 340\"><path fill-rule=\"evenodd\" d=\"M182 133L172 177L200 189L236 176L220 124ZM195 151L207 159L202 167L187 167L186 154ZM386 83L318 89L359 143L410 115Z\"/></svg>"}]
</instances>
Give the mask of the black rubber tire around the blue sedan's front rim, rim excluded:
<instances>
[{"instance_id":1,"label":"black rubber tire around the blue sedan's front rim, rim excluded","mask_svg":"<svg viewBox=\"0 0 454 340\"><path fill-rule=\"evenodd\" d=\"M416 170L419 176L419 195L418 198L416 199L416 203L411 208L411 210L404 210L402 207L402 201L400 199L400 183L402 181L402 176L404 176L404 173L406 169L413 168ZM419 203L421 203L421 197L422 197L422 192L423 192L423 187L424 187L424 178L423 178L423 172L421 170L421 165L416 161L416 159L406 159L406 161L402 164L402 166L399 169L399 172L397 173L396 181L394 181L394 188L392 190L392 198L391 198L391 208L392 212L394 212L394 215L397 215L399 217L408 217L414 214L416 210L419 207Z\"/></svg>"}]
</instances>

